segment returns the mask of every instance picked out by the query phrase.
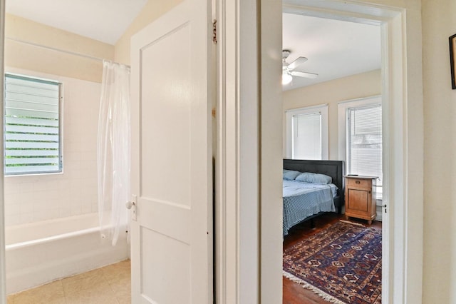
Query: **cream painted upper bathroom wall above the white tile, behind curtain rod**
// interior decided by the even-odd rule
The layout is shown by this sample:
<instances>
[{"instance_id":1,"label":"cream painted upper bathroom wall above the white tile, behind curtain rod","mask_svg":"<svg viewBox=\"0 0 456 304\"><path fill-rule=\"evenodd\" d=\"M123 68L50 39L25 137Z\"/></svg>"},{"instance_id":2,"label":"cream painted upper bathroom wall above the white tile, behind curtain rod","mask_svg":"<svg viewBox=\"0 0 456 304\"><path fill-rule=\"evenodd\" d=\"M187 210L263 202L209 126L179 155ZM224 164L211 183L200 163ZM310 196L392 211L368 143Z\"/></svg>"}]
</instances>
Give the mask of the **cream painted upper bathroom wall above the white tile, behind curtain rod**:
<instances>
[{"instance_id":1,"label":"cream painted upper bathroom wall above the white tile, behind curtain rod","mask_svg":"<svg viewBox=\"0 0 456 304\"><path fill-rule=\"evenodd\" d=\"M5 36L32 44L73 51L103 59L114 59L114 46L51 26L6 14ZM17 69L40 71L87 81L101 82L101 61L6 39L5 65Z\"/></svg>"}]
</instances>

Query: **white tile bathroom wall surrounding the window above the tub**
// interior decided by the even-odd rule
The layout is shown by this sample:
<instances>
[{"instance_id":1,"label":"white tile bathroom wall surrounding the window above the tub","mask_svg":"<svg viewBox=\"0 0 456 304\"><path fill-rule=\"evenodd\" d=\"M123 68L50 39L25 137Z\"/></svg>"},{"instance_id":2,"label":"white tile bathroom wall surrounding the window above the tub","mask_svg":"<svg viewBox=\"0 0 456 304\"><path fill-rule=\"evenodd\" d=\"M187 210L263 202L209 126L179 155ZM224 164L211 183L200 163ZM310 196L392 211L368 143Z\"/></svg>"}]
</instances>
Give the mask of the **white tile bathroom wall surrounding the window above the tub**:
<instances>
[{"instance_id":1,"label":"white tile bathroom wall surrounding the window above the tub","mask_svg":"<svg viewBox=\"0 0 456 304\"><path fill-rule=\"evenodd\" d=\"M11 72L63 83L63 173L6 176L6 226L96 212L100 83Z\"/></svg>"}]
</instances>

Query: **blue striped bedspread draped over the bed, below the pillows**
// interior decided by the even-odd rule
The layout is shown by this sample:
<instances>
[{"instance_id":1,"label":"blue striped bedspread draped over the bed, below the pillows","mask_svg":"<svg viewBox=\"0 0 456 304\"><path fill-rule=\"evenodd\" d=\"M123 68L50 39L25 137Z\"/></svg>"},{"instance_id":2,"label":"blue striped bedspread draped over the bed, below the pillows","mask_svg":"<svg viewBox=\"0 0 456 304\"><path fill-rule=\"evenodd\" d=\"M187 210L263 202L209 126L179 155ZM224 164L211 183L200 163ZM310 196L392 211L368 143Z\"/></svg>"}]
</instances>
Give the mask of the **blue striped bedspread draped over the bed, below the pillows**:
<instances>
[{"instance_id":1,"label":"blue striped bedspread draped over the bed, below the pillows","mask_svg":"<svg viewBox=\"0 0 456 304\"><path fill-rule=\"evenodd\" d=\"M333 198L336 185L304 183L284 179L284 235L288 230L309 216L322 211L335 212Z\"/></svg>"}]
</instances>

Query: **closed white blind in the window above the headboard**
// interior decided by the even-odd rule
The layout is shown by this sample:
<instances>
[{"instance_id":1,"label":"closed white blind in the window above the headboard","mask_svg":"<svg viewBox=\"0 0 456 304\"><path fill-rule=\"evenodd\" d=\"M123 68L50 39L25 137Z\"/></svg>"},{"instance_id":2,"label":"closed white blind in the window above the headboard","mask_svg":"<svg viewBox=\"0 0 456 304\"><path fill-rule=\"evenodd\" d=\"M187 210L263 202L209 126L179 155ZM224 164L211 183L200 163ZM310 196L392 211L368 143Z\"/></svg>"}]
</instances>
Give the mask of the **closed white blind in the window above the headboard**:
<instances>
[{"instance_id":1,"label":"closed white blind in the window above the headboard","mask_svg":"<svg viewBox=\"0 0 456 304\"><path fill-rule=\"evenodd\" d=\"M321 160L321 113L293 116L294 159Z\"/></svg>"}]
</instances>

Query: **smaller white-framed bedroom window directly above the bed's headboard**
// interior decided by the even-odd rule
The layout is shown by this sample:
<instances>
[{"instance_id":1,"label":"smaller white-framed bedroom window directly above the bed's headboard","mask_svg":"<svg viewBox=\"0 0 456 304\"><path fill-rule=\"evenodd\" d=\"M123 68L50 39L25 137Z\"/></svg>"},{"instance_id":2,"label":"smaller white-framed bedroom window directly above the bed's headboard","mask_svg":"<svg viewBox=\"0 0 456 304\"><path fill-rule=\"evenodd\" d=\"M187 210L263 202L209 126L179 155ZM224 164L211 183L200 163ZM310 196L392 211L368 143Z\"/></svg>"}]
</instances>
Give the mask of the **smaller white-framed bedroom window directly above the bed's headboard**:
<instances>
[{"instance_id":1,"label":"smaller white-framed bedroom window directly above the bed's headboard","mask_svg":"<svg viewBox=\"0 0 456 304\"><path fill-rule=\"evenodd\" d=\"M286 157L328 159L328 104L286 111Z\"/></svg>"}]
</instances>

